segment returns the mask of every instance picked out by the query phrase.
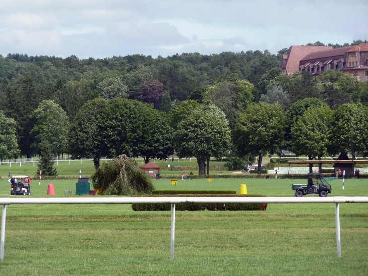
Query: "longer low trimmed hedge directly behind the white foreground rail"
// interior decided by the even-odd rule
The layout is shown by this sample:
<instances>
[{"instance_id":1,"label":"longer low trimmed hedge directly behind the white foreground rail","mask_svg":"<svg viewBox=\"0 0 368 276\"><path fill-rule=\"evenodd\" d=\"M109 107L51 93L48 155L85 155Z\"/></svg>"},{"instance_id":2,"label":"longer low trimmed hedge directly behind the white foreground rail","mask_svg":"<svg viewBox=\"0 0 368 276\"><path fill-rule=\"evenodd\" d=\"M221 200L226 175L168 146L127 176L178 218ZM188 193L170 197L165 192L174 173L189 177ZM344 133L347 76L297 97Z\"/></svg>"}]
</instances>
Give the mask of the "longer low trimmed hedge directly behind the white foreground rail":
<instances>
[{"instance_id":1,"label":"longer low trimmed hedge directly behind the white foreground rail","mask_svg":"<svg viewBox=\"0 0 368 276\"><path fill-rule=\"evenodd\" d=\"M164 197L167 195L131 195L131 197ZM229 195L229 194L182 194L181 197L264 197L263 195ZM170 211L171 203L133 203L134 211ZM197 203L185 202L175 204L177 211L264 211L267 203Z\"/></svg>"}]
</instances>

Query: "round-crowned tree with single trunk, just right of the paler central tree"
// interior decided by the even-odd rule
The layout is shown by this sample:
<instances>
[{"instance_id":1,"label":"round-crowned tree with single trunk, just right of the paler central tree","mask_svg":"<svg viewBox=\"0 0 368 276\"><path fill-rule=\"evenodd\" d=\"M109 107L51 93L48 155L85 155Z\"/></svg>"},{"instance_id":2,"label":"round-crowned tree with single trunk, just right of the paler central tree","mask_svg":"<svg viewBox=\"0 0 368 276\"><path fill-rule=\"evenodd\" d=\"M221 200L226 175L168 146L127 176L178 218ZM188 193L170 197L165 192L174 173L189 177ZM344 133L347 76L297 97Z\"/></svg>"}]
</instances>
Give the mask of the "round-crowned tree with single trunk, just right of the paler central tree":
<instances>
[{"instance_id":1,"label":"round-crowned tree with single trunk, just right of the paler central tree","mask_svg":"<svg viewBox=\"0 0 368 276\"><path fill-rule=\"evenodd\" d=\"M234 144L239 155L258 156L258 174L262 158L279 153L284 142L286 116L278 104L260 102L250 105L236 121Z\"/></svg>"}]
</instances>

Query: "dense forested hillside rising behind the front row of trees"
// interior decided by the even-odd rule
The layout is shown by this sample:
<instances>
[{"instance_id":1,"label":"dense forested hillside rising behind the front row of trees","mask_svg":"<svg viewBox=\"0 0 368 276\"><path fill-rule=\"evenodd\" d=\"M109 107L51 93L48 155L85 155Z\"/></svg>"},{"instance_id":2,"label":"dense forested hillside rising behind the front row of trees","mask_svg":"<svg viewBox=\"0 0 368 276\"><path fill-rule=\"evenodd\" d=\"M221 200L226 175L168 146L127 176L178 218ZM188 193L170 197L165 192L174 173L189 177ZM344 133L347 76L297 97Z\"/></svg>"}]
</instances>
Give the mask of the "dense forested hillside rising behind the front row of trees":
<instances>
[{"instance_id":1,"label":"dense forested hillside rising behind the front row of trees","mask_svg":"<svg viewBox=\"0 0 368 276\"><path fill-rule=\"evenodd\" d=\"M331 45L342 47L360 42ZM182 102L211 102L224 113L231 131L253 102L277 103L284 112L304 98L317 98L332 110L344 103L368 105L367 82L341 72L328 71L318 78L298 72L283 76L278 66L287 50L281 49L277 55L268 50L249 50L211 55L182 53L156 59L134 54L83 60L76 56L9 53L6 57L0 55L0 111L14 119L21 155L30 157L41 152L37 122L44 116L42 108L53 104L62 108L58 117L65 116L68 123L64 126L69 127L90 100L135 99L170 113L171 119L167 120L175 129L173 121L180 118ZM65 146L58 153L68 150Z\"/></svg>"}]
</instances>

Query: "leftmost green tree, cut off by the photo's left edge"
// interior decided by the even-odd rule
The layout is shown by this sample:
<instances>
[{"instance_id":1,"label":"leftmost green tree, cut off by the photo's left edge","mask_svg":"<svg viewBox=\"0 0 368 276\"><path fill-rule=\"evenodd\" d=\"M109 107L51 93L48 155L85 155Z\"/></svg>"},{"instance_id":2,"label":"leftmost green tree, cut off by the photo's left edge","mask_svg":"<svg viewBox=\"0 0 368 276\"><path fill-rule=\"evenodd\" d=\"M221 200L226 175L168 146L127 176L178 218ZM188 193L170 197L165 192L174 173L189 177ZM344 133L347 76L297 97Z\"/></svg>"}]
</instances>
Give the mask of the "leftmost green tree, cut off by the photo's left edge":
<instances>
[{"instance_id":1,"label":"leftmost green tree, cut off by the photo's left edge","mask_svg":"<svg viewBox=\"0 0 368 276\"><path fill-rule=\"evenodd\" d=\"M21 152L16 137L16 122L0 111L0 159L14 158Z\"/></svg>"}]
</instances>

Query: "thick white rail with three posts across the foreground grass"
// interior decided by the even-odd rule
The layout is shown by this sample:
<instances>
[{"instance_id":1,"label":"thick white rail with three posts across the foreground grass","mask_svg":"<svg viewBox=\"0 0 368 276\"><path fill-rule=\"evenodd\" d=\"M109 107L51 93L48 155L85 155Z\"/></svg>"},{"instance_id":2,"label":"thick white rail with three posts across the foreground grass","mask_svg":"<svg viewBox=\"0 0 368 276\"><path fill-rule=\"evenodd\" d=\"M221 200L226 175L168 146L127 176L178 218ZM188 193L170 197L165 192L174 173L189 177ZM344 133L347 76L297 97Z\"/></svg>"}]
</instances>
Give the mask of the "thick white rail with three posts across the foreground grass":
<instances>
[{"instance_id":1,"label":"thick white rail with three posts across the foreground grass","mask_svg":"<svg viewBox=\"0 0 368 276\"><path fill-rule=\"evenodd\" d=\"M175 204L197 203L334 203L336 220L337 257L341 257L340 203L368 203L368 197L86 197L86 198L0 198L3 205L0 243L0 260L4 260L5 222L7 205L12 204L132 204L171 203L170 258L174 258L175 245Z\"/></svg>"}]
</instances>

